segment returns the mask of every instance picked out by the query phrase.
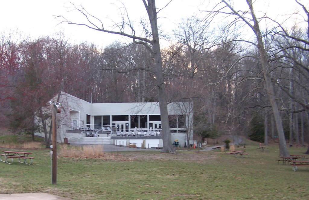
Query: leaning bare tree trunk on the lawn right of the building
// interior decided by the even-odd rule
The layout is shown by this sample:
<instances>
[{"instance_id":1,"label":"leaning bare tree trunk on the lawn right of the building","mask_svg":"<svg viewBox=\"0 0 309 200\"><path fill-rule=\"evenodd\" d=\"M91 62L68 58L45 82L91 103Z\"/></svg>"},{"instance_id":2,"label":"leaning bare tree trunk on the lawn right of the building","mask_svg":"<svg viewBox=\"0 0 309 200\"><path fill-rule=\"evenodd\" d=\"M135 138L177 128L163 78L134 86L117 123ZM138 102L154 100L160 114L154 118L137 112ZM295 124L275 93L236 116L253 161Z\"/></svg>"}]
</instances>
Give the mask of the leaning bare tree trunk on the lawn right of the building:
<instances>
[{"instance_id":1,"label":"leaning bare tree trunk on the lawn right of the building","mask_svg":"<svg viewBox=\"0 0 309 200\"><path fill-rule=\"evenodd\" d=\"M265 51L265 48L264 48L263 38L262 38L262 35L261 35L261 32L260 32L259 21L256 18L256 15L254 14L254 11L253 11L252 0L247 0L247 4L250 8L251 15L252 15L252 18L253 18L254 25L252 25L252 29L253 29L253 31L256 35L257 48L259 50L260 61L261 61L262 70L263 70L264 79L265 79L266 92L269 96L269 101L270 101L271 107L273 109L273 114L274 114L276 127L277 127L277 131L278 131L279 155L280 156L289 156L289 152L288 152L288 149L287 149L287 146L286 146L286 138L284 136L283 126L282 126L280 111L279 111L278 104L277 104L277 101L276 101L275 90L274 90L274 86L273 86L273 83L271 81L271 75L270 75L270 72L269 72L269 65L268 65L268 62L267 62L267 56L266 56L266 51Z\"/></svg>"}]
</instances>

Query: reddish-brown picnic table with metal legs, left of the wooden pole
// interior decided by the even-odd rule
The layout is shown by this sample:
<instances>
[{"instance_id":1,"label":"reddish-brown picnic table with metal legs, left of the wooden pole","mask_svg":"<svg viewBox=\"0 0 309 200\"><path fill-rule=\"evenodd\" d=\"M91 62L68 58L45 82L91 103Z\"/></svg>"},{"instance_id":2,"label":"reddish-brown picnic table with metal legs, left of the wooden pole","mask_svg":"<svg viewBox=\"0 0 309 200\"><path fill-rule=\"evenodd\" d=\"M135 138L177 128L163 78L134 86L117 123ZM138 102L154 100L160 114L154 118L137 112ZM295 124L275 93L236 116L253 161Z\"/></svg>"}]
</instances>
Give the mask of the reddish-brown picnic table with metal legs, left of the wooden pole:
<instances>
[{"instance_id":1,"label":"reddish-brown picnic table with metal legs, left of the wooden pole","mask_svg":"<svg viewBox=\"0 0 309 200\"><path fill-rule=\"evenodd\" d=\"M29 157L30 154L28 152L20 152L20 151L6 151L2 150L4 154L0 154L0 160L2 162L12 164L13 158L17 158L19 163L25 163L27 165L31 165L33 163L34 159L33 157ZM2 156L4 156L4 160L2 159ZM9 158L11 159L11 162L8 162ZM30 159L30 163L27 163L27 159Z\"/></svg>"}]
</instances>

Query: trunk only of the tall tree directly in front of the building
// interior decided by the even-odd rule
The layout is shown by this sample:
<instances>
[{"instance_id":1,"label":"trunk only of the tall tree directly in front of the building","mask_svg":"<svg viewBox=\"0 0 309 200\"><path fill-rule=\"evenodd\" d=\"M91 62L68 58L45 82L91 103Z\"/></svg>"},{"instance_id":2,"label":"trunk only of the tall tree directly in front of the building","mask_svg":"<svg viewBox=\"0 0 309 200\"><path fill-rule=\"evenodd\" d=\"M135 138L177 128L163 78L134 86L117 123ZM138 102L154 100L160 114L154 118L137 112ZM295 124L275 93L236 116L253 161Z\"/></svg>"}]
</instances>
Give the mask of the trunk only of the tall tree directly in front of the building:
<instances>
[{"instance_id":1,"label":"trunk only of the tall tree directly in front of the building","mask_svg":"<svg viewBox=\"0 0 309 200\"><path fill-rule=\"evenodd\" d=\"M174 147L171 143L171 133L170 126L168 121L167 113L167 99L164 85L164 75L162 68L162 58L161 50L159 43L159 34L158 34L158 23L157 23L157 11L155 6L155 0L148 0L148 5L145 0L143 0L146 7L150 26L152 31L152 55L155 59L155 74L157 80L157 87L159 93L159 104L160 104L160 113L161 113L161 124L162 124L162 137L163 137L163 149L162 152L174 152Z\"/></svg>"}]
</instances>

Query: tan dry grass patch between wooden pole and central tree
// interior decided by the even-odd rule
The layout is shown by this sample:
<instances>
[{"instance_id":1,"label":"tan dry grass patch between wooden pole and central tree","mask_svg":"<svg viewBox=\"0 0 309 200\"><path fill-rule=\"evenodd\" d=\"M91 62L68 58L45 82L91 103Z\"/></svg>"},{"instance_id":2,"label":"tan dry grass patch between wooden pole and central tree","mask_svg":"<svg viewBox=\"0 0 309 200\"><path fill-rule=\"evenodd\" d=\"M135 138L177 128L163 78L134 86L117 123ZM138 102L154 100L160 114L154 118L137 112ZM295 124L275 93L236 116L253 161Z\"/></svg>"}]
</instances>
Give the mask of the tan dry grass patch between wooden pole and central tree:
<instances>
[{"instance_id":1,"label":"tan dry grass patch between wooden pole and central tree","mask_svg":"<svg viewBox=\"0 0 309 200\"><path fill-rule=\"evenodd\" d=\"M104 159L104 160L129 160L121 154L105 153L101 145L87 145L87 146L69 146L61 145L59 155L67 158L85 158L85 159Z\"/></svg>"}]
</instances>

